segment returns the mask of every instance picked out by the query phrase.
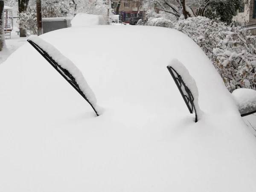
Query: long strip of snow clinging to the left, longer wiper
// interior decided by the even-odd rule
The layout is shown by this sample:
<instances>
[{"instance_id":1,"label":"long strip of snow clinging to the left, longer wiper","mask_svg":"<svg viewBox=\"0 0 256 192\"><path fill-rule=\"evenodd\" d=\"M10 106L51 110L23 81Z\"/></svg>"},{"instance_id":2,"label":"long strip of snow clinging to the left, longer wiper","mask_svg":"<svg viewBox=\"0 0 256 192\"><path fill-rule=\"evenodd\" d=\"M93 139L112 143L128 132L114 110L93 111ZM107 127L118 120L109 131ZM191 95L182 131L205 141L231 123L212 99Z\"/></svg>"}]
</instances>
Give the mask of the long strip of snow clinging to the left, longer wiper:
<instances>
[{"instance_id":1,"label":"long strip of snow clinging to the left, longer wiper","mask_svg":"<svg viewBox=\"0 0 256 192\"><path fill-rule=\"evenodd\" d=\"M64 55L61 54L61 52L58 51L58 49L56 49L54 46L44 41L43 39L37 37L36 35L30 36L29 40L33 41L39 47L44 49L44 51L46 51L49 56L53 58L53 60L55 60L61 67L68 70L69 73L76 79L76 83L79 85L79 88L84 93L88 101L93 105L94 108L98 108L96 96L93 93L93 90L91 90L91 88L87 84L79 68L77 68L76 65L74 65L73 62L70 61L70 59L66 58Z\"/></svg>"}]
</instances>

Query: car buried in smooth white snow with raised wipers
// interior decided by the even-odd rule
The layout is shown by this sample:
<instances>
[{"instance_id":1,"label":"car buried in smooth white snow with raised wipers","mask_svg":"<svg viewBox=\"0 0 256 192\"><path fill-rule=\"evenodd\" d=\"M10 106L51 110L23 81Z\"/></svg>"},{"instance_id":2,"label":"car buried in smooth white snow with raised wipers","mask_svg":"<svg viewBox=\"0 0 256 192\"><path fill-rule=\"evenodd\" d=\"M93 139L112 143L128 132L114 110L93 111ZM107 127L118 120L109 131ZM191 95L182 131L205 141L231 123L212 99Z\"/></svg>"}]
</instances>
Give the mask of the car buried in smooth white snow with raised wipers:
<instances>
[{"instance_id":1,"label":"car buried in smooth white snow with raised wipers","mask_svg":"<svg viewBox=\"0 0 256 192\"><path fill-rule=\"evenodd\" d=\"M38 39L62 66L77 67L101 109L96 116L31 44L17 49L0 65L1 192L256 191L256 139L192 39L150 26L66 28ZM198 122L169 65L198 93Z\"/></svg>"}]
</instances>

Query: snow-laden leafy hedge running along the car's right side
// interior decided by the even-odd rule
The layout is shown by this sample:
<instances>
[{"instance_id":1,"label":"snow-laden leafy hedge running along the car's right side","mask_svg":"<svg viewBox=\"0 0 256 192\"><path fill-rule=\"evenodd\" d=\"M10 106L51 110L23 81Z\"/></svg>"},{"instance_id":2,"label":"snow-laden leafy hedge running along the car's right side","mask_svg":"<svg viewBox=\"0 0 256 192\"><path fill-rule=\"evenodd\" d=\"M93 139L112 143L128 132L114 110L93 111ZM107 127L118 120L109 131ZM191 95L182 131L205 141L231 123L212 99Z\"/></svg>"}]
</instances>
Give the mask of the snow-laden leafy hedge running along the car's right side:
<instances>
[{"instance_id":1,"label":"snow-laden leafy hedge running along the car's right side","mask_svg":"<svg viewBox=\"0 0 256 192\"><path fill-rule=\"evenodd\" d=\"M256 90L256 37L250 31L200 16L179 20L175 29L204 50L230 92Z\"/></svg>"}]
</instances>

